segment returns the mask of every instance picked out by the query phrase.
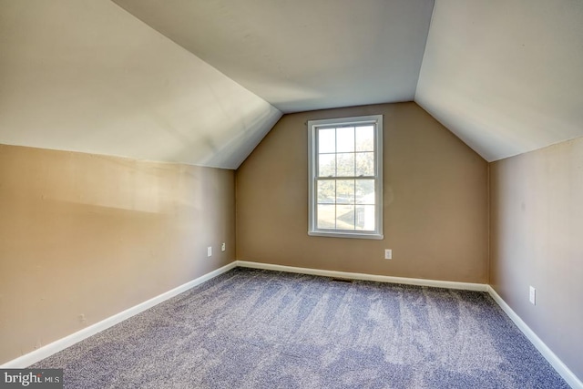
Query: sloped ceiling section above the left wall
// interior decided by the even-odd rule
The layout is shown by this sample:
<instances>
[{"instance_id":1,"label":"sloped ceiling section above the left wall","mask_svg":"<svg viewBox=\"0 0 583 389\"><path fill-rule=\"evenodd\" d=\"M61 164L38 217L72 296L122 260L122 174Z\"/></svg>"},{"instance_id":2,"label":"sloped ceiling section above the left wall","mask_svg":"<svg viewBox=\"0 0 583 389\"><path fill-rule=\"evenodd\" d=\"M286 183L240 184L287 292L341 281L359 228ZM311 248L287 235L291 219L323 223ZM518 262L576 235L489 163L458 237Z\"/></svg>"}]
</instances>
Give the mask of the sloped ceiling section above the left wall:
<instances>
[{"instance_id":1,"label":"sloped ceiling section above the left wall","mask_svg":"<svg viewBox=\"0 0 583 389\"><path fill-rule=\"evenodd\" d=\"M110 1L0 10L0 143L236 169L281 117Z\"/></svg>"}]
</instances>

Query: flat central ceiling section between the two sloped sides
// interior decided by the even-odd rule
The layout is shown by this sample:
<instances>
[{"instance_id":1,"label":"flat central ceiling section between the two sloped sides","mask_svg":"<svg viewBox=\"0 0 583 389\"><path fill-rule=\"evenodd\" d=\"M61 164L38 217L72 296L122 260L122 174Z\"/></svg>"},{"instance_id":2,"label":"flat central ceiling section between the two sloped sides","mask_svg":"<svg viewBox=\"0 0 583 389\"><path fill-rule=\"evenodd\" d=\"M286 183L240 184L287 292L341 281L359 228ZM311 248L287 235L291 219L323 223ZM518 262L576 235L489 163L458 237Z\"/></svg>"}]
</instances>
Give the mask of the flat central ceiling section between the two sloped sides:
<instances>
[{"instance_id":1,"label":"flat central ceiling section between the two sloped sides","mask_svg":"<svg viewBox=\"0 0 583 389\"><path fill-rule=\"evenodd\" d=\"M283 112L411 101L433 0L114 0Z\"/></svg>"}]
</instances>

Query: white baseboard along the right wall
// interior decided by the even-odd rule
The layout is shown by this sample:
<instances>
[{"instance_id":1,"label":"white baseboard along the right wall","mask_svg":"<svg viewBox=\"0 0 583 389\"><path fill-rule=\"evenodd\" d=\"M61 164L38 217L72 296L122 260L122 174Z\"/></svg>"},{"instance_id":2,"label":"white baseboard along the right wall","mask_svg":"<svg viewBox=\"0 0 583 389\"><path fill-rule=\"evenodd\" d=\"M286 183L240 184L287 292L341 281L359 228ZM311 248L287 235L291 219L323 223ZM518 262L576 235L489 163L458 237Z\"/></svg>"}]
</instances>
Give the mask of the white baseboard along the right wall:
<instances>
[{"instance_id":1,"label":"white baseboard along the right wall","mask_svg":"<svg viewBox=\"0 0 583 389\"><path fill-rule=\"evenodd\" d=\"M577 375L573 374L573 372L571 372L567 365L565 365L565 363L563 363L563 361L561 361L557 357L557 354L553 353L551 349L548 348L547 344L545 344L537 336L537 334L534 331L532 331L530 327L528 327L527 323L524 322L520 318L520 316L518 316L517 312L514 312L514 310L510 308L510 305L508 305L504 300L502 300L502 297L500 297L500 295L496 293L496 291L494 290L494 288L492 288L491 285L488 285L487 292L490 294L490 296L492 296L492 298L500 306L500 308L502 308L502 310L506 312L510 320L517 324L518 329L525 334L530 343L533 343L533 345L537 348L538 352L541 353L545 357L545 359L547 359L548 363L550 363L551 366L555 368L557 373L560 374L560 376L563 377L565 381L567 381L567 384L569 384L573 389L583 389L583 382L581 382L581 380L578 379Z\"/></svg>"}]
</instances>

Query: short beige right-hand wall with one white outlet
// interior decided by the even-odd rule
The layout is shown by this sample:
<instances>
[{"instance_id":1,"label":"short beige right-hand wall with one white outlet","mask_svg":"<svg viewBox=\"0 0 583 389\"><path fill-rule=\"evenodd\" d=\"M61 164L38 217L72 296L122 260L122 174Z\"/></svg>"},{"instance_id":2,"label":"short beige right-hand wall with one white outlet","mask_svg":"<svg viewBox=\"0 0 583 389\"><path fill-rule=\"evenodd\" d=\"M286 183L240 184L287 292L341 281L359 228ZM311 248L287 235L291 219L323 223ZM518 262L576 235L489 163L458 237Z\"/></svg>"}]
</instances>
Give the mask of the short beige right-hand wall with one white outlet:
<instances>
[{"instance_id":1,"label":"short beige right-hand wall with one white outlet","mask_svg":"<svg viewBox=\"0 0 583 389\"><path fill-rule=\"evenodd\" d=\"M583 138L497 161L490 174L490 284L583 377Z\"/></svg>"}]
</instances>

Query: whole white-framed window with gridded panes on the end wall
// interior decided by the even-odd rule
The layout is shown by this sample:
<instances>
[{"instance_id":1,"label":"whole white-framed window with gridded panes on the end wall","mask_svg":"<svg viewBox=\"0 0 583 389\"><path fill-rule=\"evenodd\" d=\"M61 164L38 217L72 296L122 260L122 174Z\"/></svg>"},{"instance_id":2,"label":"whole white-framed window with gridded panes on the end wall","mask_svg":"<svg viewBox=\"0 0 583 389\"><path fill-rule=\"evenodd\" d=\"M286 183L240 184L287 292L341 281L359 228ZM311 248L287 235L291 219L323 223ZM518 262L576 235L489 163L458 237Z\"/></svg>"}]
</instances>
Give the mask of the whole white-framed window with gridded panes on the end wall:
<instances>
[{"instance_id":1,"label":"whole white-framed window with gridded panes on the end wall","mask_svg":"<svg viewBox=\"0 0 583 389\"><path fill-rule=\"evenodd\" d=\"M383 116L308 121L312 236L383 239Z\"/></svg>"}]
</instances>

